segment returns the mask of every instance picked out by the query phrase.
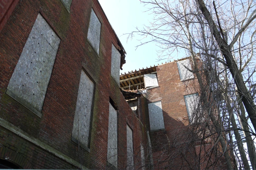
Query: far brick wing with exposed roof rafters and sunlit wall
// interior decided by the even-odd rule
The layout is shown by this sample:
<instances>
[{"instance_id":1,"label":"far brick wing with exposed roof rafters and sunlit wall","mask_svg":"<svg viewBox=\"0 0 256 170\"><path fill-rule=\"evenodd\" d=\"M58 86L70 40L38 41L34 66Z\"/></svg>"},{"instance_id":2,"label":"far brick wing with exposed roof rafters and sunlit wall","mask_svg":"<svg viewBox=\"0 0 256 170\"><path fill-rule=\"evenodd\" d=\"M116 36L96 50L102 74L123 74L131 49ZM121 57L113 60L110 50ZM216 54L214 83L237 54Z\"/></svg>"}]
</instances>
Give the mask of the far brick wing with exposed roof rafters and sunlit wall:
<instances>
[{"instance_id":1,"label":"far brick wing with exposed roof rafters and sunlit wall","mask_svg":"<svg viewBox=\"0 0 256 170\"><path fill-rule=\"evenodd\" d=\"M128 103L132 110L136 110L134 112L140 113L139 105L143 101L141 109L146 115L145 128L151 143L148 153L152 153L152 162L148 158L147 163L156 169L205 169L208 159L203 156L213 144L209 138L202 145L200 137L190 133L188 124L200 121L193 116L195 111L198 112L199 84L196 75L186 67L191 69L187 58L120 75L121 88L143 93L141 98L130 99ZM137 109L134 109L134 103ZM216 154L220 154L219 151ZM200 165L198 155L202 157ZM226 169L224 158L213 168Z\"/></svg>"}]
</instances>

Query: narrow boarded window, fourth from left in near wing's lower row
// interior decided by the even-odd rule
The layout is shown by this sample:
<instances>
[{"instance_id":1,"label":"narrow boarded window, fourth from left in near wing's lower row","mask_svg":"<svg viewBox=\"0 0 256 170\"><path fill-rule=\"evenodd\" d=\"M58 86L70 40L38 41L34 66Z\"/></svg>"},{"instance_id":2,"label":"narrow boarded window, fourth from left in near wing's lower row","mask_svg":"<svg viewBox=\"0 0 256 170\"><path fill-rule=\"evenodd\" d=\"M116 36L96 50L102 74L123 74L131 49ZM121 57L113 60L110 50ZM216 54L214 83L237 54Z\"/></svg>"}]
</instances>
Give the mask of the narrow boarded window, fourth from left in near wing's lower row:
<instances>
[{"instance_id":1,"label":"narrow boarded window, fourth from left in near wing's lower row","mask_svg":"<svg viewBox=\"0 0 256 170\"><path fill-rule=\"evenodd\" d=\"M132 138L132 130L126 125L126 133L127 133L127 169L133 169L133 138Z\"/></svg>"}]
</instances>

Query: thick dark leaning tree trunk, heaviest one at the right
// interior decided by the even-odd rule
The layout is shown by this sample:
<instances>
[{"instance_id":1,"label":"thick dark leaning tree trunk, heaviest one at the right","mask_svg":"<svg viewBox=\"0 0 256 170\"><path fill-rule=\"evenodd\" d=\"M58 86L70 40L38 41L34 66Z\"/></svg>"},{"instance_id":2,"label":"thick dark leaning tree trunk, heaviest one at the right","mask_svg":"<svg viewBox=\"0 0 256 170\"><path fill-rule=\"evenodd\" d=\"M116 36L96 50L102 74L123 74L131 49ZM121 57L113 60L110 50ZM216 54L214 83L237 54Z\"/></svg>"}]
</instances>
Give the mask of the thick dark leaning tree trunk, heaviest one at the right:
<instances>
[{"instance_id":1,"label":"thick dark leaning tree trunk, heaviest one at the right","mask_svg":"<svg viewBox=\"0 0 256 170\"><path fill-rule=\"evenodd\" d=\"M237 86L239 96L241 97L244 103L244 106L252 122L254 130L256 131L256 110L254 109L255 104L250 93L248 92L247 87L245 86L243 76L239 72L235 60L233 59L232 53L230 51L230 46L226 43L225 40L222 39L221 34L218 31L217 26L215 25L210 12L208 11L207 7L204 4L204 1L196 0L196 2L198 2L199 8L202 14L204 15L204 18L207 20L209 28L211 29L211 32L213 33L213 36L226 60L227 66L230 69L230 73L232 74L232 77Z\"/></svg>"}]
</instances>

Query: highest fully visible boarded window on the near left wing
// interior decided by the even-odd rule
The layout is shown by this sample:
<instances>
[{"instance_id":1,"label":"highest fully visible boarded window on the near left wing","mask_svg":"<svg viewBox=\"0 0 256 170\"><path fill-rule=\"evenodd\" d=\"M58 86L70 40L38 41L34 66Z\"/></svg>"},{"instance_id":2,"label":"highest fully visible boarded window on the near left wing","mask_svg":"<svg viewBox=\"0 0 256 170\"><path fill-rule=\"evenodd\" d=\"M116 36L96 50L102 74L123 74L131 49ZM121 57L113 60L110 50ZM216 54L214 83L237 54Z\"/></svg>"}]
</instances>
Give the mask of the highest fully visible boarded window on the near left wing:
<instances>
[{"instance_id":1,"label":"highest fully visible boarded window on the near left wing","mask_svg":"<svg viewBox=\"0 0 256 170\"><path fill-rule=\"evenodd\" d=\"M94 50L99 54L101 23L92 9L87 39Z\"/></svg>"}]
</instances>

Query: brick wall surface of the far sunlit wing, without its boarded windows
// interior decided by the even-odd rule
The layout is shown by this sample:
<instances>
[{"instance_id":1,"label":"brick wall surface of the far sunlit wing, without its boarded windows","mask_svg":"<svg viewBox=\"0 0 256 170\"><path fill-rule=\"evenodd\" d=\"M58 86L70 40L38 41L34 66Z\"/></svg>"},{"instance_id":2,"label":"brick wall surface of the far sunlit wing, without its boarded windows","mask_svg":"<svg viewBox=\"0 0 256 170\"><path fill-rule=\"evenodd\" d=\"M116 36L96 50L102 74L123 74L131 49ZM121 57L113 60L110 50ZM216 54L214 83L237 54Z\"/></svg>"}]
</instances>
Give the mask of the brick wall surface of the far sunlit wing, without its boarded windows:
<instances>
[{"instance_id":1,"label":"brick wall surface of the far sunlit wing, without its boarded windows","mask_svg":"<svg viewBox=\"0 0 256 170\"><path fill-rule=\"evenodd\" d=\"M184 101L184 95L199 92L196 78L180 81L177 62L170 62L157 67L159 87L147 89L144 97L147 102L161 100L165 130L150 132L154 165L157 169L198 169L197 156L200 145L194 145L188 129L188 113ZM194 75L196 77L196 75ZM146 126L150 129L149 117L146 111ZM191 143L190 143L191 142ZM206 149L211 148L211 143ZM205 154L201 152L201 154ZM201 160L200 167L206 166ZM217 163L218 167L225 168L222 159Z\"/></svg>"}]
</instances>

